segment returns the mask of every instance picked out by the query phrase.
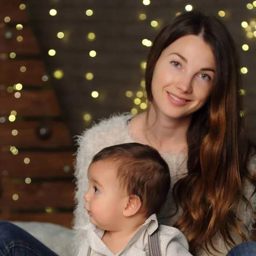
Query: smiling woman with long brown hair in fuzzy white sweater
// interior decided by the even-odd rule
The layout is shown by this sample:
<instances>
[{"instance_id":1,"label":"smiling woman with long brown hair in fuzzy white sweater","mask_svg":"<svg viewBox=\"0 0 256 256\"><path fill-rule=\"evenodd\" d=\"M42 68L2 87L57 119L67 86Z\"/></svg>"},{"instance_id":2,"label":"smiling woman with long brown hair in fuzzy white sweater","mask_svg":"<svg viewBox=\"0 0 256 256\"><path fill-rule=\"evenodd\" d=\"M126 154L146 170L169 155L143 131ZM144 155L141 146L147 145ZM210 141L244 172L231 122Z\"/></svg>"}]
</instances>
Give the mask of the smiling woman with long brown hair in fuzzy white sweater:
<instances>
[{"instance_id":1,"label":"smiling woman with long brown hair in fuzzy white sweater","mask_svg":"<svg viewBox=\"0 0 256 256\"><path fill-rule=\"evenodd\" d=\"M79 137L76 244L88 222L82 195L91 157L135 141L157 148L169 164L173 189L159 217L186 235L193 255L225 255L232 247L229 256L254 255L255 243L241 242L250 238L256 208L256 147L239 116L239 58L230 33L198 12L175 17L151 47L145 81L147 112L112 116Z\"/></svg>"}]
</instances>

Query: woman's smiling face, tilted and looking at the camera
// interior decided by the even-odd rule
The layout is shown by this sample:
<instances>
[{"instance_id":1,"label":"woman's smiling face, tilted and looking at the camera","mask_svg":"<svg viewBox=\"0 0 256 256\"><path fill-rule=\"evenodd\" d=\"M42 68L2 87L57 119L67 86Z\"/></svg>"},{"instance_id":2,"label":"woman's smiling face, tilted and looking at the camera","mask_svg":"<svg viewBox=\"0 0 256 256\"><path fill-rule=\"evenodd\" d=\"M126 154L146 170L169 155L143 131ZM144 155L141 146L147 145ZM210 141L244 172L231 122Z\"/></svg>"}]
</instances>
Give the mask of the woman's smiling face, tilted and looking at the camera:
<instances>
[{"instance_id":1,"label":"woman's smiling face, tilted and looking at the camera","mask_svg":"<svg viewBox=\"0 0 256 256\"><path fill-rule=\"evenodd\" d=\"M200 36L186 35L163 50L152 78L153 103L173 119L190 118L209 97L215 57Z\"/></svg>"}]
</instances>

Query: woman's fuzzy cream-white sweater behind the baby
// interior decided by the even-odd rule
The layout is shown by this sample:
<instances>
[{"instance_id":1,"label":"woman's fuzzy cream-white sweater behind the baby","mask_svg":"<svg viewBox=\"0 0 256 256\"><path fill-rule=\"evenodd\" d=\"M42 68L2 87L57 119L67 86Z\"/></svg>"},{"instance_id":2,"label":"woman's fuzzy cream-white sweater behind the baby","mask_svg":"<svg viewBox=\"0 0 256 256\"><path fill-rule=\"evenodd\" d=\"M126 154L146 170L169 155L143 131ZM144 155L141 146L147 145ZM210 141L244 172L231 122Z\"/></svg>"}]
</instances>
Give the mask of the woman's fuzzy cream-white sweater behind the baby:
<instances>
[{"instance_id":1,"label":"woman's fuzzy cream-white sweater behind the baby","mask_svg":"<svg viewBox=\"0 0 256 256\"><path fill-rule=\"evenodd\" d=\"M81 239L84 236L82 230L80 230L81 226L84 226L85 224L89 223L89 217L87 215L87 212L84 210L84 198L83 194L88 189L88 180L87 180L87 169L90 164L91 158L94 154L96 154L98 151L100 151L102 148L121 144L121 143L130 143L134 142L132 138L130 137L128 133L128 119L131 119L131 114L122 114L122 115L116 115L112 116L109 119L104 119L101 122L99 122L97 125L93 125L92 128L88 129L87 131L84 131L84 133L78 137L78 144L79 149L77 152L77 158L76 158L76 178L77 178L77 191L76 191L76 202L77 207L75 209L74 215L74 228L76 229L76 238L75 238L75 245L76 248L81 243ZM169 155L163 155L163 158L166 160L166 162L169 165L171 177L172 177L172 185L170 189L170 194L168 201L166 202L166 206L163 208L161 214L159 217L163 217L166 215L170 215L174 208L174 201L172 198L172 187L175 183L175 180L177 180L176 175L184 174L187 172L186 170L186 157L187 155L185 153L183 154L169 154ZM254 161L254 163L253 163ZM255 159L250 164L250 169L254 171L255 169ZM175 177L176 176L176 177ZM247 198L250 198L250 195L253 192L253 186L249 184L248 182L244 182L244 195ZM256 197L254 196L251 200L251 204L253 206L253 209L256 209ZM248 209L246 211L245 205L240 208L239 212L239 218L241 218L244 223L248 226L249 232L252 231L252 222L250 223L250 210ZM166 224L169 226L172 226L175 221L177 220L178 216L182 214L181 209L178 211L177 215L173 217L172 219L165 219L163 221L160 221L161 224ZM247 236L249 237L250 234L245 231ZM235 241L237 243L241 242L237 237L234 237ZM229 248L226 248L224 246L224 243L218 235L215 236L215 246L220 250L223 251L224 254L219 255L225 255ZM207 253L202 250L200 253L197 254L197 256L206 256Z\"/></svg>"}]
</instances>

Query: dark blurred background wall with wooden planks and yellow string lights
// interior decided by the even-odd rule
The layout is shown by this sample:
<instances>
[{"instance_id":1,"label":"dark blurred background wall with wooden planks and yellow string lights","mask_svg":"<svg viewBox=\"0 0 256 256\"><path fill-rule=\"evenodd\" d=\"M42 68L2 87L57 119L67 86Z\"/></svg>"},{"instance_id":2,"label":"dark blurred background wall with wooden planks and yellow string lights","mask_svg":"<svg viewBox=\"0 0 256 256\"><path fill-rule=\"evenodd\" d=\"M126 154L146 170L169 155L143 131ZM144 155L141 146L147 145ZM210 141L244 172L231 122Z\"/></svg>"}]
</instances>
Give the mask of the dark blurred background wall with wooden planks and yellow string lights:
<instances>
[{"instance_id":1,"label":"dark blurred background wall with wooden planks and yellow string lights","mask_svg":"<svg viewBox=\"0 0 256 256\"><path fill-rule=\"evenodd\" d=\"M192 9L233 35L255 134L256 1L0 0L0 219L71 227L74 136L147 109L148 51Z\"/></svg>"}]
</instances>

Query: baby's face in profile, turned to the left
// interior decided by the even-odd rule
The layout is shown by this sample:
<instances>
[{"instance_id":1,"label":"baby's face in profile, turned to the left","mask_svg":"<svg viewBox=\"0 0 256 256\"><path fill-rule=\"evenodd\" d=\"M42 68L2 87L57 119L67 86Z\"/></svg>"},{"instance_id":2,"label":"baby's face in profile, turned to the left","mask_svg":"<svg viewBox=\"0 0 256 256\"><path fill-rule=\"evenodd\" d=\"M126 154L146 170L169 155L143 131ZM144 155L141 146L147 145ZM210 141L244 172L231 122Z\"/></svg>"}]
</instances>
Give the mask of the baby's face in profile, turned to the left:
<instances>
[{"instance_id":1,"label":"baby's face in profile, turned to the left","mask_svg":"<svg viewBox=\"0 0 256 256\"><path fill-rule=\"evenodd\" d=\"M90 222L103 230L116 231L122 221L127 195L116 177L116 166L100 160L88 169L89 190L84 194L84 208Z\"/></svg>"}]
</instances>

